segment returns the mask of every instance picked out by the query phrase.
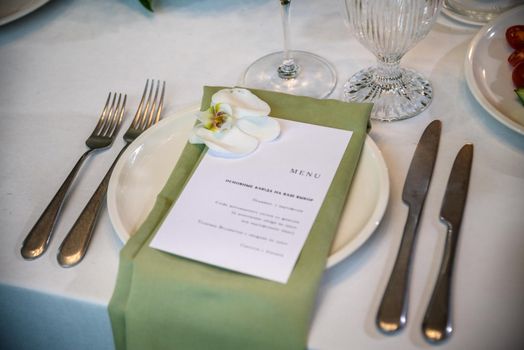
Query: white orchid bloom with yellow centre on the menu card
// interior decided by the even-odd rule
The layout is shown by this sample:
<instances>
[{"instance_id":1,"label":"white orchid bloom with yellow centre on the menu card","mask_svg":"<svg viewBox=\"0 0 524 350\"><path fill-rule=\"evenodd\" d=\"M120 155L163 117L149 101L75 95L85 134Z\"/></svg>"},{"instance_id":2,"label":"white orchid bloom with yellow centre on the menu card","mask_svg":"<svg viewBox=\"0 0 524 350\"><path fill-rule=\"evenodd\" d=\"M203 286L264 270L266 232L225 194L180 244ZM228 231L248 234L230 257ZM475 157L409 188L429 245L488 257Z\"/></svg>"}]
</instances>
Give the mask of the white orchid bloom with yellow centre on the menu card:
<instances>
[{"instance_id":1,"label":"white orchid bloom with yellow centre on the menu card","mask_svg":"<svg viewBox=\"0 0 524 350\"><path fill-rule=\"evenodd\" d=\"M260 142L280 135L280 125L268 116L270 110L249 90L220 90L211 97L211 107L199 113L189 142L204 143L215 156L245 156Z\"/></svg>"}]
</instances>

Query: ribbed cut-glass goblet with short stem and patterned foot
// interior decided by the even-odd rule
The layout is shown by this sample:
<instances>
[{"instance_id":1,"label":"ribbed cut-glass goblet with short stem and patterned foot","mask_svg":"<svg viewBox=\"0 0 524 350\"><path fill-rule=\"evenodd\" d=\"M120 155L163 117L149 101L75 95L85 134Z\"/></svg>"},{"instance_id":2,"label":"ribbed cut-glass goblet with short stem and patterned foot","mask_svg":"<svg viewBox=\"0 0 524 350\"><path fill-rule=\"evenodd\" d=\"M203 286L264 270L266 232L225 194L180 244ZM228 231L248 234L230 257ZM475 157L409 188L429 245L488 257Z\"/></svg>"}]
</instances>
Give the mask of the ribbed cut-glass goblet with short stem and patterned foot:
<instances>
[{"instance_id":1,"label":"ribbed cut-glass goblet with short stem and patterned foot","mask_svg":"<svg viewBox=\"0 0 524 350\"><path fill-rule=\"evenodd\" d=\"M374 103L371 118L393 121L428 107L433 89L421 74L400 67L404 54L430 31L442 0L345 0L349 25L377 64L344 85L345 101Z\"/></svg>"}]
</instances>

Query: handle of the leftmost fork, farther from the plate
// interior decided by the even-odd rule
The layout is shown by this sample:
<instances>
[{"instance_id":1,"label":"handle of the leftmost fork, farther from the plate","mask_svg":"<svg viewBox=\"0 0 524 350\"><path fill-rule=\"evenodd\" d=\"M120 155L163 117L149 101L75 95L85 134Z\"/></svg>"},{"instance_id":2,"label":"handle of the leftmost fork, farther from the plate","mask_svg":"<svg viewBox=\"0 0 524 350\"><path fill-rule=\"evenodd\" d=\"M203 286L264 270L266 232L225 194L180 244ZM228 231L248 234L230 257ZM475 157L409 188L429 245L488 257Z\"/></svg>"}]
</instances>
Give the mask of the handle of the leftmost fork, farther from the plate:
<instances>
[{"instance_id":1,"label":"handle of the leftmost fork, farther from the plate","mask_svg":"<svg viewBox=\"0 0 524 350\"><path fill-rule=\"evenodd\" d=\"M47 250L49 242L51 241L53 227L55 226L60 209L65 202L66 194L69 191L69 188L71 187L78 170L80 170L82 163L84 160L86 160L91 151L91 149L86 151L76 162L69 175L67 175L67 178L65 179L62 186L60 186L53 199L51 199L51 202L49 202L43 213L40 215L38 221L24 239L24 242L22 243L22 249L20 250L20 253L24 259L36 259L44 254L44 252Z\"/></svg>"}]
</instances>

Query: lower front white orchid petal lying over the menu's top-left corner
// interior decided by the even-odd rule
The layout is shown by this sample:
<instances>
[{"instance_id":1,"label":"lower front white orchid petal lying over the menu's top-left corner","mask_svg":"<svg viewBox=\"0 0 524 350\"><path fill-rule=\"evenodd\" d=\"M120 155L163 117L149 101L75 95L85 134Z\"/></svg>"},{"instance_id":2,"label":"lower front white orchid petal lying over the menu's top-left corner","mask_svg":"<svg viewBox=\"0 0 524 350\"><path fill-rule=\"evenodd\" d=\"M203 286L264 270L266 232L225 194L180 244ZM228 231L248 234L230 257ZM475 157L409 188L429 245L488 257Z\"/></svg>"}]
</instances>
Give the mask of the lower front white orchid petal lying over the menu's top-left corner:
<instances>
[{"instance_id":1,"label":"lower front white orchid petal lying over the menu's top-left corner","mask_svg":"<svg viewBox=\"0 0 524 350\"><path fill-rule=\"evenodd\" d=\"M253 152L258 147L257 138L244 133L237 127L214 133L205 128L196 128L190 140L202 140L212 155L218 157L242 157Z\"/></svg>"}]
</instances>

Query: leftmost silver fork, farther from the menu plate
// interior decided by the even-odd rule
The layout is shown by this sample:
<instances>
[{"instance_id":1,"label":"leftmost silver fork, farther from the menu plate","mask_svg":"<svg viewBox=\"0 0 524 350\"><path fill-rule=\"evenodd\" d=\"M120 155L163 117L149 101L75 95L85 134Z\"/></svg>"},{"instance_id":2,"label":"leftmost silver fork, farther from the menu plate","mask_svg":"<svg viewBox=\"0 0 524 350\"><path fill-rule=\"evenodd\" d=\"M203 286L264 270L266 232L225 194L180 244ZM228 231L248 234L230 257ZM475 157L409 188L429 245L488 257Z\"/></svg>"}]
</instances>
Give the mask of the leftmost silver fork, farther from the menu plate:
<instances>
[{"instance_id":1,"label":"leftmost silver fork, farther from the menu plate","mask_svg":"<svg viewBox=\"0 0 524 350\"><path fill-rule=\"evenodd\" d=\"M46 251L49 242L51 241L56 219L58 218L60 209L65 202L65 196L71 187L76 174L91 152L111 146L122 122L126 99L126 95L124 95L122 100L122 94L117 93L113 94L113 98L111 98L111 93L107 96L106 104L98 118L98 123L86 140L86 145L89 149L76 162L64 183L58 189L58 192L55 194L51 202L49 202L44 212L40 215L40 218L25 238L20 251L24 259L36 259Z\"/></svg>"}]
</instances>

